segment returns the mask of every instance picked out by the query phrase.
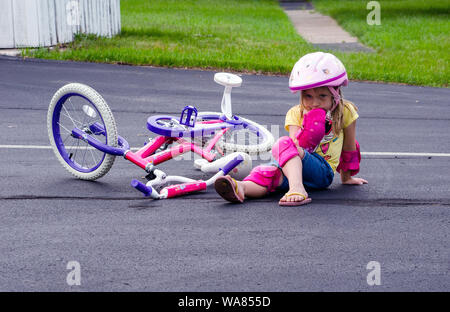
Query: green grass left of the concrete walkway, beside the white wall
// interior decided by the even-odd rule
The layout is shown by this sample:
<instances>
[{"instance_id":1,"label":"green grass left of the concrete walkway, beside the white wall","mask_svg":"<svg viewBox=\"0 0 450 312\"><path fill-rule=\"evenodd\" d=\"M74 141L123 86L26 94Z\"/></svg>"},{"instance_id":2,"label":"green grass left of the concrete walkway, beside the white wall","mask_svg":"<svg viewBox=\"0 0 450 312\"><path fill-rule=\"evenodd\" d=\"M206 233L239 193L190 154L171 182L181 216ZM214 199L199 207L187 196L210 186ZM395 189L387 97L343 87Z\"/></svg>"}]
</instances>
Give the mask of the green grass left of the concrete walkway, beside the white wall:
<instances>
[{"instance_id":1,"label":"green grass left of the concrete walkway, beside the white wall","mask_svg":"<svg viewBox=\"0 0 450 312\"><path fill-rule=\"evenodd\" d=\"M274 0L122 0L122 33L78 36L41 58L287 73L313 51Z\"/></svg>"}]
</instances>

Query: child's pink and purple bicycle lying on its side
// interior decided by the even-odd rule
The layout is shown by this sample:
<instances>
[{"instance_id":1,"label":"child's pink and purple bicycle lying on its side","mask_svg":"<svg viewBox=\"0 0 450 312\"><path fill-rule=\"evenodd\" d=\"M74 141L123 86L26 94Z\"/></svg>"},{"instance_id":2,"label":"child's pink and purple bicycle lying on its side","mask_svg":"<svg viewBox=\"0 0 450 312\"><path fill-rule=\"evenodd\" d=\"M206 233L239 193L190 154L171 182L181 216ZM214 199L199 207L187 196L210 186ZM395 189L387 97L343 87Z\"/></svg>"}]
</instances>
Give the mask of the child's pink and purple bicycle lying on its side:
<instances>
[{"instance_id":1,"label":"child's pink and purple bicycle lying on its side","mask_svg":"<svg viewBox=\"0 0 450 312\"><path fill-rule=\"evenodd\" d=\"M123 156L147 173L146 183L132 180L131 186L154 199L205 190L226 174L243 178L252 168L250 155L270 151L274 138L265 127L232 114L231 90L241 86L239 76L216 73L214 81L225 87L220 113L186 106L180 117L150 116L147 128L156 137L137 150L118 135L111 109L99 93L84 84L67 84L54 94L49 105L51 146L64 168L82 180L104 176L115 157ZM194 162L197 169L214 173L210 179L168 176L156 168L188 152L200 156Z\"/></svg>"}]
</instances>

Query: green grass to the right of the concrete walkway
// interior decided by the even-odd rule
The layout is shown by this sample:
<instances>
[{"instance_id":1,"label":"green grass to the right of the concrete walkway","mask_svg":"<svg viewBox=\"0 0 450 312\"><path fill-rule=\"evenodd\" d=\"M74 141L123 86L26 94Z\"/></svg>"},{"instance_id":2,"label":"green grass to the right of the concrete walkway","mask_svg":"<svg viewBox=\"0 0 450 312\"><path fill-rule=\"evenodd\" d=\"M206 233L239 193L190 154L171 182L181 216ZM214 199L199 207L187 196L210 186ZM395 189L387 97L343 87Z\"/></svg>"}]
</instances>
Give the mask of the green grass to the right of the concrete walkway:
<instances>
[{"instance_id":1,"label":"green grass to the right of the concrete walkway","mask_svg":"<svg viewBox=\"0 0 450 312\"><path fill-rule=\"evenodd\" d=\"M449 1L379 1L379 26L367 24L367 2L313 1L318 11L332 16L362 43L377 50L375 54L335 53L351 78L447 87Z\"/></svg>"}]
</instances>

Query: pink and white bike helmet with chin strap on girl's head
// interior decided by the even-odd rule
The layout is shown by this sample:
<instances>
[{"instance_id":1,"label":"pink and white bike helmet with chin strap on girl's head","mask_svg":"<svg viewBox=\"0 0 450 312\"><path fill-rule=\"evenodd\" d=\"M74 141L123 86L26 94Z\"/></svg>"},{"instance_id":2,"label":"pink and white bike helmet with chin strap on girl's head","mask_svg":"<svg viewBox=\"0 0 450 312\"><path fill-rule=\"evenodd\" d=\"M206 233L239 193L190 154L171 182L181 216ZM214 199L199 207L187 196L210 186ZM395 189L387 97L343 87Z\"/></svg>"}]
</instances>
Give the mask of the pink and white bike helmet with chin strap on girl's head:
<instances>
[{"instance_id":1,"label":"pink and white bike helmet with chin strap on girl's head","mask_svg":"<svg viewBox=\"0 0 450 312\"><path fill-rule=\"evenodd\" d=\"M302 56L291 71L289 88L291 92L328 87L333 94L335 105L340 101L337 88L348 85L347 72L342 62L333 54L314 52Z\"/></svg>"}]
</instances>

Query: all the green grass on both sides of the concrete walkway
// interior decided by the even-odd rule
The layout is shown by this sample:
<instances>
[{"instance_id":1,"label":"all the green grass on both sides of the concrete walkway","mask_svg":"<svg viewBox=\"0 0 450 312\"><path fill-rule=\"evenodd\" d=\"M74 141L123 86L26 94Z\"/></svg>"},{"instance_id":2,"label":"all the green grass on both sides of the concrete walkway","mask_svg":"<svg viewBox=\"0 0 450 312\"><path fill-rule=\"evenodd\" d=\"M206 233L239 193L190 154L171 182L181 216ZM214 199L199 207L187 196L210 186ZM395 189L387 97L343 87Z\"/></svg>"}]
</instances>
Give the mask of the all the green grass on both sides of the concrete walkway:
<instances>
[{"instance_id":1,"label":"all the green grass on both sides of the concrete walkway","mask_svg":"<svg viewBox=\"0 0 450 312\"><path fill-rule=\"evenodd\" d=\"M379 1L381 25L366 23L367 1L313 1L375 53L336 54L350 79L448 86L448 0ZM122 0L122 32L79 35L64 49L26 56L288 74L317 50L297 35L275 0Z\"/></svg>"}]
</instances>

